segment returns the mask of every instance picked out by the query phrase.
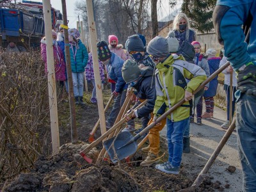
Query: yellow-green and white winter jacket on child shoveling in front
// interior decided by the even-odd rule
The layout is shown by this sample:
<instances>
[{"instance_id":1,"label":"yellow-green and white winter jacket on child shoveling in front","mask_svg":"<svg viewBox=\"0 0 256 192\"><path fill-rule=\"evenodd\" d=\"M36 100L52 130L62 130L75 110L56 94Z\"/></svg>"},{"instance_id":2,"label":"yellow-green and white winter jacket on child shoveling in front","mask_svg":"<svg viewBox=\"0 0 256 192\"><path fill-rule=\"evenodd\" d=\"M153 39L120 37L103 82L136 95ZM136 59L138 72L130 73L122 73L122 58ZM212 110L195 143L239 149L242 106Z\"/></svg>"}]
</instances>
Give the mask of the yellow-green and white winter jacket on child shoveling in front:
<instances>
[{"instance_id":1,"label":"yellow-green and white winter jacket on child shoveling in front","mask_svg":"<svg viewBox=\"0 0 256 192\"><path fill-rule=\"evenodd\" d=\"M155 116L163 115L184 98L185 90L192 93L206 79L206 74L201 67L182 60L182 56L170 55L158 63L156 68L157 98L153 112ZM189 81L188 84L187 81ZM168 115L168 118L173 122L184 120L189 117L189 109L189 102L184 102Z\"/></svg>"}]
</instances>

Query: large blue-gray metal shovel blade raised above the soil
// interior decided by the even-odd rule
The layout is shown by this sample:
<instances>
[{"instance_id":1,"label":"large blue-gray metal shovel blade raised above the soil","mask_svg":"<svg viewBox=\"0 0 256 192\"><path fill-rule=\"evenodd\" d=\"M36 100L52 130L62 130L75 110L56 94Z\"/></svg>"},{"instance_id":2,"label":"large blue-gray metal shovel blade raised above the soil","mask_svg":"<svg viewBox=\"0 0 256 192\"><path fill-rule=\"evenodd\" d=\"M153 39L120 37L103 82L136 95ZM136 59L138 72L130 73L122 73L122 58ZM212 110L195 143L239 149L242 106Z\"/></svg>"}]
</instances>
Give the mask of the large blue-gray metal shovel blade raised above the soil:
<instances>
[{"instance_id":1,"label":"large blue-gray metal shovel blade raised above the soil","mask_svg":"<svg viewBox=\"0 0 256 192\"><path fill-rule=\"evenodd\" d=\"M106 151L108 152L108 155L113 163L116 163L117 159L120 161L122 159L125 159L125 157L131 156L136 152L138 147L136 141L129 143L129 145L126 145L125 147L122 147L126 143L131 141L132 138L133 138L132 134L130 132L125 131L125 132L121 132L116 137L113 137L113 138L110 138L109 140L104 141L103 145L106 148ZM115 152L113 150L113 145L112 145L114 140L115 140L114 147L116 150L116 156L115 156ZM118 149L119 147L122 147L122 148Z\"/></svg>"}]
</instances>

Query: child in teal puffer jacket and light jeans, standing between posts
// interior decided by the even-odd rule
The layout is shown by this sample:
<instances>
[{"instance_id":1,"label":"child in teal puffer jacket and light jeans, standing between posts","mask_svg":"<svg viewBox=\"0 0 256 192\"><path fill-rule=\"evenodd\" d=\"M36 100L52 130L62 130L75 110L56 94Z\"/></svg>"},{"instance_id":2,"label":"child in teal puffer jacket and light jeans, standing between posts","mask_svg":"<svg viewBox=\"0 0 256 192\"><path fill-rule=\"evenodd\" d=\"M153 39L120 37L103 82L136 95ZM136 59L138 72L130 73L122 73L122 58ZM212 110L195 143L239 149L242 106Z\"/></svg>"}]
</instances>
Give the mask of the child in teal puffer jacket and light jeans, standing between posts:
<instances>
[{"instance_id":1,"label":"child in teal puffer jacket and light jeans, standing between posts","mask_svg":"<svg viewBox=\"0 0 256 192\"><path fill-rule=\"evenodd\" d=\"M70 63L76 104L82 104L84 92L84 67L88 61L88 52L79 38L77 29L68 29L68 40L70 44Z\"/></svg>"}]
</instances>

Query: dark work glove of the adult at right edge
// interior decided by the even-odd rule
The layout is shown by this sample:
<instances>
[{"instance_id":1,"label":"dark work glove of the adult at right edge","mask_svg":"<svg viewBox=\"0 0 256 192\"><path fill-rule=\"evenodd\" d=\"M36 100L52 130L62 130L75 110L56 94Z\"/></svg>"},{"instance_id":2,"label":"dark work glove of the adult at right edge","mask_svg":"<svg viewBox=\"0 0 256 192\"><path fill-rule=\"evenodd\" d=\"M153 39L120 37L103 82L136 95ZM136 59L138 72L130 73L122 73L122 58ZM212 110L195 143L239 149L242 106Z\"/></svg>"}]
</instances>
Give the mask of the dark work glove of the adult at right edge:
<instances>
[{"instance_id":1,"label":"dark work glove of the adult at right edge","mask_svg":"<svg viewBox=\"0 0 256 192\"><path fill-rule=\"evenodd\" d=\"M256 96L256 65L248 65L237 75L237 88L246 95Z\"/></svg>"}]
</instances>

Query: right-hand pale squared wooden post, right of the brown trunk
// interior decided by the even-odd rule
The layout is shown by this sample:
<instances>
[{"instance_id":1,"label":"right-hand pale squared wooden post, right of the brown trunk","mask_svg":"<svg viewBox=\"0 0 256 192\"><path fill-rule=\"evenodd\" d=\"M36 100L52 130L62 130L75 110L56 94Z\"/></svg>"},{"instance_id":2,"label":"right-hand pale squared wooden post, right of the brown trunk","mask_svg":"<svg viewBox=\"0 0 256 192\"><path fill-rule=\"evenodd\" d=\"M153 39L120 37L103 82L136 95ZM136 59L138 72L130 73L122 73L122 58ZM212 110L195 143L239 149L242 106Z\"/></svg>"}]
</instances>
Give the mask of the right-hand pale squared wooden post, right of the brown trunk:
<instances>
[{"instance_id":1,"label":"right-hand pale squared wooden post, right of the brown trunk","mask_svg":"<svg viewBox=\"0 0 256 192\"><path fill-rule=\"evenodd\" d=\"M102 84L100 79L100 71L99 71L99 58L97 54L97 33L96 33L96 26L95 21L93 20L93 3L92 0L86 0L86 9L88 13L88 28L90 33L90 43L91 43L91 50L92 50L92 58L93 58L93 71L95 77L95 86L96 86L96 93L98 99L98 110L100 116L100 131L101 134L106 132L106 122L105 122L105 113L104 113L104 106L103 106L103 99L102 99Z\"/></svg>"}]
</instances>

